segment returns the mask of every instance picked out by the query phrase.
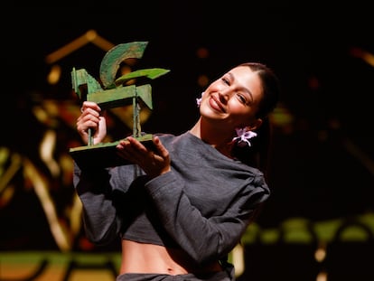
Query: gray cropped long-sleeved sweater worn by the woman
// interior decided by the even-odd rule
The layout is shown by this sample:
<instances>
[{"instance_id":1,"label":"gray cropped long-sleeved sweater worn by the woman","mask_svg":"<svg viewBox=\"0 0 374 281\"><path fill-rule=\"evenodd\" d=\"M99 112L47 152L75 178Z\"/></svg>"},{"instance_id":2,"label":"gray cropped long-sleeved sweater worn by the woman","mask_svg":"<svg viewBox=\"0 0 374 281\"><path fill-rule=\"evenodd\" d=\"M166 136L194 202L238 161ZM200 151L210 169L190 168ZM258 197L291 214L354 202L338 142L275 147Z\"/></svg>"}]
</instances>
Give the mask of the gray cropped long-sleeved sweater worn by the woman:
<instances>
[{"instance_id":1,"label":"gray cropped long-sleeved sweater worn by the woman","mask_svg":"<svg viewBox=\"0 0 374 281\"><path fill-rule=\"evenodd\" d=\"M226 257L269 189L255 168L186 132L158 134L172 171L149 180L134 164L74 169L86 234L94 243L123 239L182 248L196 263Z\"/></svg>"}]
</instances>

